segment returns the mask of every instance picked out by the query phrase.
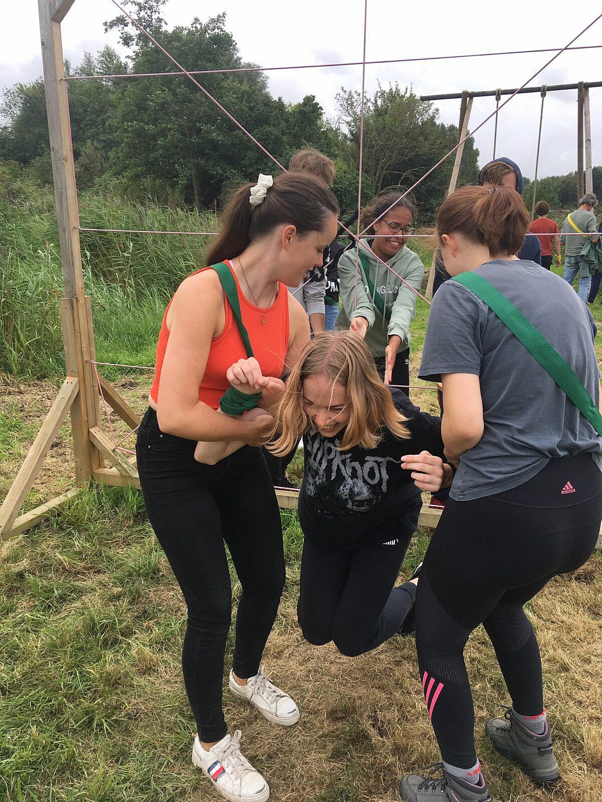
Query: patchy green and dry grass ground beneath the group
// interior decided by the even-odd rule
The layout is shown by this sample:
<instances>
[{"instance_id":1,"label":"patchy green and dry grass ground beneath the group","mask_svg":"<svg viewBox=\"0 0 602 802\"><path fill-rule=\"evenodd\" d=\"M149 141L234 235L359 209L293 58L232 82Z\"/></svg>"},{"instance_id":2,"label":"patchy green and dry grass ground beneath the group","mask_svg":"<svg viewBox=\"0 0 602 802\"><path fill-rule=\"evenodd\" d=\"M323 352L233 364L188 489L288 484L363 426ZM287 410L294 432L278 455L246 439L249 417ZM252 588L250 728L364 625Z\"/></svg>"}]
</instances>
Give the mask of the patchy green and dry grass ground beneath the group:
<instances>
[{"instance_id":1,"label":"patchy green and dry grass ground beneath the group","mask_svg":"<svg viewBox=\"0 0 602 802\"><path fill-rule=\"evenodd\" d=\"M98 226L100 227L100 226ZM126 227L126 226L124 226ZM132 228L135 227L132 225ZM99 285L100 286L100 285ZM157 296L157 306L164 302ZM96 302L93 294L93 304ZM130 299L131 300L131 299ZM107 350L130 326L123 306L104 307L98 358L153 358L152 343ZM593 307L602 320L602 307ZM427 309L413 324L415 376ZM161 312L153 323L158 327ZM132 332L136 321L131 325ZM125 332L124 332L125 335ZM115 338L120 334L115 334ZM154 336L154 334L153 334ZM105 345L108 343L108 345ZM602 354L599 353L599 358ZM56 391L59 373L0 382L0 497ZM138 410L148 375L117 376ZM432 391L413 399L435 410ZM62 428L29 507L71 486L70 432ZM413 638L392 638L360 658L303 642L296 624L302 535L283 513L287 587L266 647L267 672L302 711L290 731L225 695L226 719L270 783L272 800L393 802L401 773L437 759L417 677ZM421 560L413 540L401 573ZM239 585L232 574L234 597ZM509 702L493 650L479 628L466 650L478 754L494 800L602 799L602 558L552 581L528 606L542 648L547 709L562 782L545 792L499 758L483 725ZM137 492L91 486L63 514L0 547L0 800L8 802L209 802L209 783L190 764L194 724L181 679L185 607ZM232 650L228 644L226 666Z\"/></svg>"}]
</instances>

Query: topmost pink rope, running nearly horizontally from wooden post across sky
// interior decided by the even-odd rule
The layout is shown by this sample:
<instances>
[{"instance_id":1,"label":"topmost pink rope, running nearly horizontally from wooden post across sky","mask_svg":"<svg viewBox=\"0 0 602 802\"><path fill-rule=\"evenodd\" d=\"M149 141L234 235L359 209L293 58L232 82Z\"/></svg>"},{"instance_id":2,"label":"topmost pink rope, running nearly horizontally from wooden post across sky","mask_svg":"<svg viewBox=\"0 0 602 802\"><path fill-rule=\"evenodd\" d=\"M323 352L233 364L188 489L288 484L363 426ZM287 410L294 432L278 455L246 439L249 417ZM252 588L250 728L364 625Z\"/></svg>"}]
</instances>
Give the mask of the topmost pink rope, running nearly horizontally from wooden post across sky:
<instances>
[{"instance_id":1,"label":"topmost pink rope, running nearly horizontally from wooden post across sky","mask_svg":"<svg viewBox=\"0 0 602 802\"><path fill-rule=\"evenodd\" d=\"M602 45L579 45L577 47L567 47L566 50L593 50ZM402 64L420 61L446 61L449 59L482 59L487 56L496 55L528 55L531 53L555 53L558 47L540 47L537 50L523 51L497 51L494 53L464 53L460 55L429 55L417 56L413 59L379 59L378 61L367 61L366 64ZM270 72L275 70L317 70L323 67L360 67L361 61L343 61L331 64L295 64L286 67L230 67L227 70L190 70L189 73L183 72L126 72L120 75L66 75L66 81L90 81L98 79L113 78L162 78L170 75L216 75L228 72Z\"/></svg>"}]
</instances>

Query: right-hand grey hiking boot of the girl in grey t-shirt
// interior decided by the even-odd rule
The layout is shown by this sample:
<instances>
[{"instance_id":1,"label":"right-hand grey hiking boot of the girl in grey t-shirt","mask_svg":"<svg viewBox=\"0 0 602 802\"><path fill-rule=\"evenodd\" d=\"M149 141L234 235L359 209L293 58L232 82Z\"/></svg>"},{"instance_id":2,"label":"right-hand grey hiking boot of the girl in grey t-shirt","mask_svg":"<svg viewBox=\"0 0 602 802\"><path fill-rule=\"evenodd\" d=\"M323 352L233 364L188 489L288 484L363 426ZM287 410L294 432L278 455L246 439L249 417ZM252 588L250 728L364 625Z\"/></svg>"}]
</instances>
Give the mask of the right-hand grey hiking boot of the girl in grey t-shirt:
<instances>
[{"instance_id":1,"label":"right-hand grey hiking boot of the girl in grey t-shirt","mask_svg":"<svg viewBox=\"0 0 602 802\"><path fill-rule=\"evenodd\" d=\"M486 723L485 732L500 755L515 760L535 784L551 785L560 779L547 722L543 735L535 735L523 727L509 707L503 719Z\"/></svg>"}]
</instances>

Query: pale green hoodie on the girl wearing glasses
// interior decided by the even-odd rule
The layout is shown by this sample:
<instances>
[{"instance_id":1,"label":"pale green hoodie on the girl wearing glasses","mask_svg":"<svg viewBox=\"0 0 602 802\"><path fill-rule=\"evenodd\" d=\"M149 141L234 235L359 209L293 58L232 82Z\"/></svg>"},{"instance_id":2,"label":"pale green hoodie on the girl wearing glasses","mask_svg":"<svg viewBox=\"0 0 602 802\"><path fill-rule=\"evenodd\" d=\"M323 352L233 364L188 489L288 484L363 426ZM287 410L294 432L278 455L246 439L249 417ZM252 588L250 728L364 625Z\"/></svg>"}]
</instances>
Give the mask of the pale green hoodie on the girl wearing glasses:
<instances>
[{"instance_id":1,"label":"pale green hoodie on the girl wearing glasses","mask_svg":"<svg viewBox=\"0 0 602 802\"><path fill-rule=\"evenodd\" d=\"M369 240L360 240L369 245ZM374 299L370 297L368 284L365 281L361 263L358 263L358 280L356 282L356 250L346 251L339 260L340 299L342 309L336 318L337 329L348 329L352 318L362 317L368 321L365 342L372 354L384 356L388 338L392 334L401 337L400 350L409 346L409 324L416 314L416 293L405 286L395 273L420 291L425 267L420 257L405 245L387 264L395 270L392 273L366 249L362 249L368 257L370 278L374 293L379 294L385 306L391 310L391 319L387 322L376 308ZM357 283L357 291L356 291Z\"/></svg>"}]
</instances>

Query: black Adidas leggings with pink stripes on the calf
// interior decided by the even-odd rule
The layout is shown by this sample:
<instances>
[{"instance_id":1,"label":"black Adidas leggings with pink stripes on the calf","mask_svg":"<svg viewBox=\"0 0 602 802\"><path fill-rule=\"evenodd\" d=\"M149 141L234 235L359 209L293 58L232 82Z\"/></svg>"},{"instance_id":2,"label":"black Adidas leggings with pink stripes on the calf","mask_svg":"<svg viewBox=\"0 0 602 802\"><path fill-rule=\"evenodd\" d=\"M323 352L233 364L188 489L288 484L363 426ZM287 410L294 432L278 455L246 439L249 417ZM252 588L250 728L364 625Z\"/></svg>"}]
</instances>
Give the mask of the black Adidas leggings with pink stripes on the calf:
<instances>
[{"instance_id":1,"label":"black Adidas leggings with pink stripes on the calf","mask_svg":"<svg viewBox=\"0 0 602 802\"><path fill-rule=\"evenodd\" d=\"M418 582L418 668L441 755L472 768L474 708L463 651L480 623L493 643L515 711L539 715L539 646L523 604L592 554L602 475L591 456L550 460L518 488L448 500Z\"/></svg>"}]
</instances>

